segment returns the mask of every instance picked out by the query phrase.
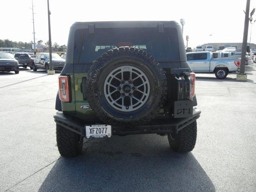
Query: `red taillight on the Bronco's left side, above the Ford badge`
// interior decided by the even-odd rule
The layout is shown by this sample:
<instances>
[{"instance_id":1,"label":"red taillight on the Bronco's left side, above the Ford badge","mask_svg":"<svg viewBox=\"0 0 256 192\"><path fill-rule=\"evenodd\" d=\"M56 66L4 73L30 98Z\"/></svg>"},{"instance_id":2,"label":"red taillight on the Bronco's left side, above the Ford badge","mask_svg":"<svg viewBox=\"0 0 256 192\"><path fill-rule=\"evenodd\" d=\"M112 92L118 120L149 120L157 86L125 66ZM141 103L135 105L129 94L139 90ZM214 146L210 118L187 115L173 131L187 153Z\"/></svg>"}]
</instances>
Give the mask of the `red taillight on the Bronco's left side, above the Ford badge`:
<instances>
[{"instance_id":1,"label":"red taillight on the Bronco's left side, above the Ford badge","mask_svg":"<svg viewBox=\"0 0 256 192\"><path fill-rule=\"evenodd\" d=\"M70 102L69 77L59 76L59 95L63 102Z\"/></svg>"}]
</instances>

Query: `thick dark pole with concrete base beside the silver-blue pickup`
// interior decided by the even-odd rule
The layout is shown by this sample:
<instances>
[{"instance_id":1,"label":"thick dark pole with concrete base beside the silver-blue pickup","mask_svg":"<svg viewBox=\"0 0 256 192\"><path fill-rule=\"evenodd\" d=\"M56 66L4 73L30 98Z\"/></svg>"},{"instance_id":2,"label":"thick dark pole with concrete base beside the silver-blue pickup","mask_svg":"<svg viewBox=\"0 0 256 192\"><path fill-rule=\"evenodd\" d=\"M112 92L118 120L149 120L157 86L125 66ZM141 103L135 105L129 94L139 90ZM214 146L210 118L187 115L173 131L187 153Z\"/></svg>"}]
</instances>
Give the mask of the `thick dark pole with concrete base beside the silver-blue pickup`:
<instances>
[{"instance_id":1,"label":"thick dark pole with concrete base beside the silver-blue pickup","mask_svg":"<svg viewBox=\"0 0 256 192\"><path fill-rule=\"evenodd\" d=\"M239 74L236 75L236 80L238 81L247 81L247 74L244 73L244 66L245 66L245 55L246 55L247 37L248 37L249 9L250 9L250 0L247 0L245 18L244 18L244 37L243 37L243 45L242 45L240 72Z\"/></svg>"}]
</instances>

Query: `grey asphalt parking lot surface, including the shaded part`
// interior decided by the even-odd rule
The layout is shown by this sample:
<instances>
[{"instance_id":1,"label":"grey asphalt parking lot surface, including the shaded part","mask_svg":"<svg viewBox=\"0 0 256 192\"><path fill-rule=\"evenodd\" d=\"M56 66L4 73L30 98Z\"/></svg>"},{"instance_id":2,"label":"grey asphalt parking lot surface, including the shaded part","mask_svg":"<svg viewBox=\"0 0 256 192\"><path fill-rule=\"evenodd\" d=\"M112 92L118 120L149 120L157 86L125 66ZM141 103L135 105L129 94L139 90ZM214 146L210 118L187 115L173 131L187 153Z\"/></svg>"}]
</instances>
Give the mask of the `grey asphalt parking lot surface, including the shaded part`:
<instances>
[{"instance_id":1,"label":"grey asphalt parking lot surface, including the shaded part","mask_svg":"<svg viewBox=\"0 0 256 192\"><path fill-rule=\"evenodd\" d=\"M247 82L196 74L198 139L177 154L166 137L84 140L82 155L62 158L53 115L59 73L0 72L0 191L252 192L256 190L256 66Z\"/></svg>"}]
</instances>

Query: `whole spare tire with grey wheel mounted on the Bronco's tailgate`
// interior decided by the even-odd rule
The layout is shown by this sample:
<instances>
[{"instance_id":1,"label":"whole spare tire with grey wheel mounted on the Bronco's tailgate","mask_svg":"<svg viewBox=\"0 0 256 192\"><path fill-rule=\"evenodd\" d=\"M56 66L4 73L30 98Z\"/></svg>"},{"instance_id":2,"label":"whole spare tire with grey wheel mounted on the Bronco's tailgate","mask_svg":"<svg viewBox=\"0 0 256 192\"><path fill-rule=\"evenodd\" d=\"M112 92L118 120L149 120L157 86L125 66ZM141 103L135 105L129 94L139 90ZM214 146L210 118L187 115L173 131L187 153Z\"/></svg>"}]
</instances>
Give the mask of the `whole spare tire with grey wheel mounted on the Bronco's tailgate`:
<instances>
[{"instance_id":1,"label":"whole spare tire with grey wheel mounted on the Bronco's tailgate","mask_svg":"<svg viewBox=\"0 0 256 192\"><path fill-rule=\"evenodd\" d=\"M114 48L92 64L86 92L100 120L136 126L158 114L166 100L166 74L147 52L134 47Z\"/></svg>"}]
</instances>

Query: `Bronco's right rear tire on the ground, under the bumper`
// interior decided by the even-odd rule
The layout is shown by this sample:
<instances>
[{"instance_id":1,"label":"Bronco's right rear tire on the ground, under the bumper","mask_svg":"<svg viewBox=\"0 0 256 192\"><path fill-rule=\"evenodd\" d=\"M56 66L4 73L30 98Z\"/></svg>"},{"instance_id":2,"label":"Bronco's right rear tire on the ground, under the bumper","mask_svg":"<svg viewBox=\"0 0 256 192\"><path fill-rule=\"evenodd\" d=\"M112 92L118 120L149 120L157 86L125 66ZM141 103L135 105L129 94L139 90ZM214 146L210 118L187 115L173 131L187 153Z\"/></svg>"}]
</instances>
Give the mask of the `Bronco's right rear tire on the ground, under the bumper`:
<instances>
[{"instance_id":1,"label":"Bronco's right rear tire on the ground, under the bumper","mask_svg":"<svg viewBox=\"0 0 256 192\"><path fill-rule=\"evenodd\" d=\"M196 121L184 127L178 134L168 134L169 144L175 152L190 152L196 144Z\"/></svg>"}]
</instances>

